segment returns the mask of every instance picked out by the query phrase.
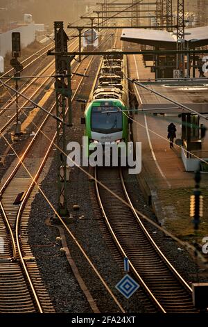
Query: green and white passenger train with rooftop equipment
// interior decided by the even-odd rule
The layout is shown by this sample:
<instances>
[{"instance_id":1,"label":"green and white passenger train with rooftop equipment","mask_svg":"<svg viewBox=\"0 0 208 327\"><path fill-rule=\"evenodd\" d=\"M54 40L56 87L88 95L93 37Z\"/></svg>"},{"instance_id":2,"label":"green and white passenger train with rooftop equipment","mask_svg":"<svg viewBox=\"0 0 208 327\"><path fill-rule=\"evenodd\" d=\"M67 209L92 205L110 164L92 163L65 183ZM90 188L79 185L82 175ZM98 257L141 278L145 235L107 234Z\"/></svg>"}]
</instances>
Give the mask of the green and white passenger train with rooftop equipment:
<instances>
[{"instance_id":1,"label":"green and white passenger train with rooftop equipment","mask_svg":"<svg viewBox=\"0 0 208 327\"><path fill-rule=\"evenodd\" d=\"M121 148L128 142L128 82L126 56L105 55L101 58L89 104L85 109L85 136L88 155L96 143L114 143ZM121 153L121 151L119 151Z\"/></svg>"}]
</instances>

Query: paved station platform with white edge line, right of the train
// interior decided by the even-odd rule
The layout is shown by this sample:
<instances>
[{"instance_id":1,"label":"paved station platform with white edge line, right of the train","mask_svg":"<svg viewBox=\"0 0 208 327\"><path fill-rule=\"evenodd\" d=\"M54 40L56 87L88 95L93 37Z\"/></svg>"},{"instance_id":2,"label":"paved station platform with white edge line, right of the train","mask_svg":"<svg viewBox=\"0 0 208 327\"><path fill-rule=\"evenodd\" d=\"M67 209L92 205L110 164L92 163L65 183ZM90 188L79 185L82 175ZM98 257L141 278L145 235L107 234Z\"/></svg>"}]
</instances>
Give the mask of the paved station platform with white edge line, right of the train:
<instances>
[{"instance_id":1,"label":"paved station platform with white edge line, right of the train","mask_svg":"<svg viewBox=\"0 0 208 327\"><path fill-rule=\"evenodd\" d=\"M132 79L154 79L150 68L144 67L141 56L128 56L129 77ZM139 74L139 76L138 76ZM137 86L136 86L137 88ZM137 99L141 96L140 88L135 92ZM158 103L161 99L155 97ZM146 99L146 103L148 99ZM138 180L144 194L153 205L159 223L182 239L193 238L194 230L189 216L190 196L195 187L194 173L187 172L182 162L180 146L170 149L167 138L168 125L173 122L177 129L177 138L181 138L181 118L176 114L154 115L138 111L133 115L133 138L141 142L142 170ZM207 128L207 120L201 121ZM203 155L208 157L208 136L203 141ZM198 153L198 155L200 155ZM208 173L201 174L200 187L204 196L204 218L200 224L202 235L208 232Z\"/></svg>"}]
</instances>

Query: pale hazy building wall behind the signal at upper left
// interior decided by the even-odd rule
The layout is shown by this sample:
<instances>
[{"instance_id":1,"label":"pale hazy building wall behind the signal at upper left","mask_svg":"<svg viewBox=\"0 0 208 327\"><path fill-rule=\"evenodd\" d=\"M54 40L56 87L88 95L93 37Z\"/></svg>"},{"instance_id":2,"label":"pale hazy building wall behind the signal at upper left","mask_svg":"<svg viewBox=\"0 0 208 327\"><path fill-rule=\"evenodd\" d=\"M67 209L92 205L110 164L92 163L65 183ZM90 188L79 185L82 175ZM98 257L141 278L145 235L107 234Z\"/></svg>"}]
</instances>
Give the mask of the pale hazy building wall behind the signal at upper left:
<instances>
[{"instance_id":1,"label":"pale hazy building wall behind the signal at upper left","mask_svg":"<svg viewBox=\"0 0 208 327\"><path fill-rule=\"evenodd\" d=\"M0 56L5 56L7 52L12 51L12 32L20 32L21 48L30 45L35 41L35 24L31 23L27 26L19 26L6 33L0 34Z\"/></svg>"}]
</instances>

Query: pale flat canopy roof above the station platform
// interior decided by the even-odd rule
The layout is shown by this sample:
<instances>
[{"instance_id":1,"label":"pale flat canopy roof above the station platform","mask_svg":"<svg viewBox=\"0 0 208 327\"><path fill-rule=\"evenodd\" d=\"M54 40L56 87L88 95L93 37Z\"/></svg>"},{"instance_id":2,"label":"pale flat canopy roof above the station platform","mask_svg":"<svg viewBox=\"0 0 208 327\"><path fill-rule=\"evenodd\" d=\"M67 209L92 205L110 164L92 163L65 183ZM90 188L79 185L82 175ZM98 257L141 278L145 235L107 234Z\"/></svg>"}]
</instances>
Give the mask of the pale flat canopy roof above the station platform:
<instances>
[{"instance_id":1,"label":"pale flat canopy roof above the station platform","mask_svg":"<svg viewBox=\"0 0 208 327\"><path fill-rule=\"evenodd\" d=\"M174 49L177 42L177 36L175 34L176 31L168 32L151 29L123 29L121 40L139 43L141 45L151 45L158 48ZM185 29L184 39L189 42L189 48L208 45L208 26Z\"/></svg>"}]
</instances>

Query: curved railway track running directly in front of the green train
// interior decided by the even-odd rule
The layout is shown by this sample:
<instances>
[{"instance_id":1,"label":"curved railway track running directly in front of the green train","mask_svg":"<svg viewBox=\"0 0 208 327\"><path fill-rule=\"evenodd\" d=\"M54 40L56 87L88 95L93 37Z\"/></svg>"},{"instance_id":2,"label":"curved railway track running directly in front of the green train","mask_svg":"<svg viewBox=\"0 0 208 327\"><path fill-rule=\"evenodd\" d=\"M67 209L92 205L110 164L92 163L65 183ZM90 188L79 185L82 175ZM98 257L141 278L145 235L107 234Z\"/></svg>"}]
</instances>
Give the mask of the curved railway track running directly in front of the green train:
<instances>
[{"instance_id":1,"label":"curved railway track running directly in front of the green train","mask_svg":"<svg viewBox=\"0 0 208 327\"><path fill-rule=\"evenodd\" d=\"M96 196L108 230L122 257L130 260L130 270L159 312L192 313L191 287L150 237L125 189L118 168L96 168L95 178L124 202L96 182Z\"/></svg>"}]
</instances>

